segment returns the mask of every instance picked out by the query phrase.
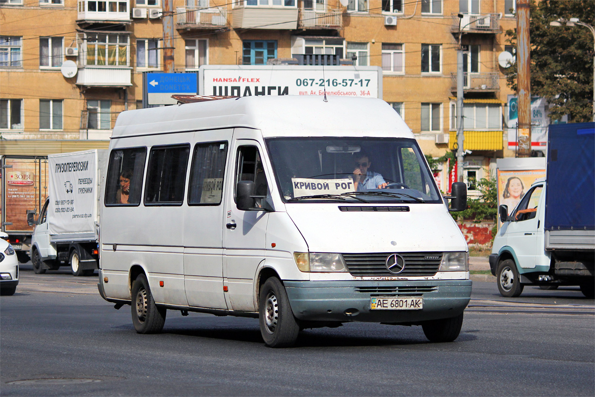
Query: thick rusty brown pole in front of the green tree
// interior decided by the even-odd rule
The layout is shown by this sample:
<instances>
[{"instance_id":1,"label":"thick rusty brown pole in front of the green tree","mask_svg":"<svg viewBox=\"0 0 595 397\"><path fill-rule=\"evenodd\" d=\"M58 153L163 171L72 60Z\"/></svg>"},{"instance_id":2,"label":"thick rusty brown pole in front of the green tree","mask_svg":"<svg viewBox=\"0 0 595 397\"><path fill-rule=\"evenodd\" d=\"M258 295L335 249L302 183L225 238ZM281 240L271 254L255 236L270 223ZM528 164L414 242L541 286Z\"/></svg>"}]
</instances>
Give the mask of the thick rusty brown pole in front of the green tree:
<instances>
[{"instance_id":1,"label":"thick rusty brown pole in front of the green tree","mask_svg":"<svg viewBox=\"0 0 595 397\"><path fill-rule=\"evenodd\" d=\"M516 0L516 85L518 86L518 155L531 156L531 54L529 1Z\"/></svg>"}]
</instances>

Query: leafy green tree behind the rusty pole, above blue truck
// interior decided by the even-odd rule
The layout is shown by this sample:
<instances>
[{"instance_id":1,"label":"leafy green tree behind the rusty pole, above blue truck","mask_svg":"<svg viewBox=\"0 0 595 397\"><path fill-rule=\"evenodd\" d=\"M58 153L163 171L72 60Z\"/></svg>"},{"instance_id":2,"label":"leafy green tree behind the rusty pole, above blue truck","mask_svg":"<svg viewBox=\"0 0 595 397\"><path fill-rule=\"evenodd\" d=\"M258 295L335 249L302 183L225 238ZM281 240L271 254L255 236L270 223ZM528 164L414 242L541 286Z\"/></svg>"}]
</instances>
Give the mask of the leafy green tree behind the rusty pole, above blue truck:
<instances>
[{"instance_id":1,"label":"leafy green tree behind the rusty pole, above blue truck","mask_svg":"<svg viewBox=\"0 0 595 397\"><path fill-rule=\"evenodd\" d=\"M568 114L573 123L593 120L593 34L584 26L550 26L558 18L579 18L595 25L595 0L531 2L531 95L550 104L550 118ZM516 45L516 30L507 30ZM518 92L516 65L506 70L508 86Z\"/></svg>"}]
</instances>

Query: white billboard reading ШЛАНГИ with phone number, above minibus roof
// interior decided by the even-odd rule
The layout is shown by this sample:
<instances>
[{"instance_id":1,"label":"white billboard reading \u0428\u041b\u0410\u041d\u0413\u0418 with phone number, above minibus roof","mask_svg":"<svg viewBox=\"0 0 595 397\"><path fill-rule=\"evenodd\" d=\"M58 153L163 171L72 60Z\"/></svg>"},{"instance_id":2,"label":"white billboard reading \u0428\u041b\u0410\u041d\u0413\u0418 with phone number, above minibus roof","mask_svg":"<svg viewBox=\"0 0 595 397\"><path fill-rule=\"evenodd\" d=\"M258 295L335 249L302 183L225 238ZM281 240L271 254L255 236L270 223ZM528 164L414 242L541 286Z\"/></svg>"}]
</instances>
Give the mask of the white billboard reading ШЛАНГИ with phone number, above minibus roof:
<instances>
[{"instance_id":1,"label":"white billboard reading \u0428\u041b\u0410\u041d\u0413\u0418 with phone number, above minibus roof","mask_svg":"<svg viewBox=\"0 0 595 397\"><path fill-rule=\"evenodd\" d=\"M203 65L199 95L326 95L382 98L377 66Z\"/></svg>"}]
</instances>

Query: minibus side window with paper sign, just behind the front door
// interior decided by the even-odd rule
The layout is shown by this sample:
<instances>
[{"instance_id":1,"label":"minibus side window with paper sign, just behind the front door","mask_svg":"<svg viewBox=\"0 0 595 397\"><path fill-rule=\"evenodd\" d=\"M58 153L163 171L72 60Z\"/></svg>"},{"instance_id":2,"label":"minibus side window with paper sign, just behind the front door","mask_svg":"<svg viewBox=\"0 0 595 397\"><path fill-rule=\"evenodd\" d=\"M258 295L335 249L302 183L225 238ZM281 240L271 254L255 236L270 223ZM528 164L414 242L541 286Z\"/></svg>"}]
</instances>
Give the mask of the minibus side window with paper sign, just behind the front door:
<instances>
[{"instance_id":1,"label":"minibus side window with paper sign, just behind the front door","mask_svg":"<svg viewBox=\"0 0 595 397\"><path fill-rule=\"evenodd\" d=\"M189 205L221 204L227 142L197 143L190 165Z\"/></svg>"}]
</instances>

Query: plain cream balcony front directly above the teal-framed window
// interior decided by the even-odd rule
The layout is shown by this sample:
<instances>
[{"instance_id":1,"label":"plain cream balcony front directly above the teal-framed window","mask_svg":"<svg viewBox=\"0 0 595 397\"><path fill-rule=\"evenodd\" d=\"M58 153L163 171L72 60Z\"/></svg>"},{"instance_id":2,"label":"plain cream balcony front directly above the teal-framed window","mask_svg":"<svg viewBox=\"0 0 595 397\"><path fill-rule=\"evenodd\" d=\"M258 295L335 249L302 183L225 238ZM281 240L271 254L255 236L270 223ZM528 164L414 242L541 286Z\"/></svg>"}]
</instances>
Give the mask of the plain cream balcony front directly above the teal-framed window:
<instances>
[{"instance_id":1,"label":"plain cream balcony front directly above the teal-framed window","mask_svg":"<svg viewBox=\"0 0 595 397\"><path fill-rule=\"evenodd\" d=\"M236 29L297 29L297 8L294 7L236 7L233 9Z\"/></svg>"}]
</instances>

